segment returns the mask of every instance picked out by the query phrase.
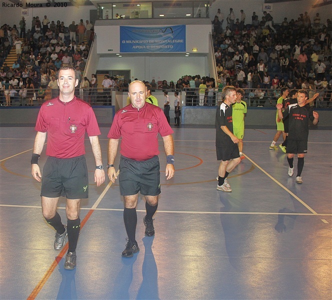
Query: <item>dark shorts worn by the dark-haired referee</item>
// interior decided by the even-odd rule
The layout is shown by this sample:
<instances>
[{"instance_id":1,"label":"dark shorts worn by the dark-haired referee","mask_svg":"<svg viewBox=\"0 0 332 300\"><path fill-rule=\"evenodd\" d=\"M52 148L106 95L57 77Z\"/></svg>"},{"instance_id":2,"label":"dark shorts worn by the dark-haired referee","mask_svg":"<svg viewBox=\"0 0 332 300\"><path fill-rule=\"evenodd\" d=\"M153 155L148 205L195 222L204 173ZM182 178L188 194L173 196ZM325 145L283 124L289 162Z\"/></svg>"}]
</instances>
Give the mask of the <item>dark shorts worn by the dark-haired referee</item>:
<instances>
[{"instance_id":1,"label":"dark shorts worn by the dark-haired referee","mask_svg":"<svg viewBox=\"0 0 332 300\"><path fill-rule=\"evenodd\" d=\"M88 174L84 155L48 157L42 172L40 196L67 199L88 197Z\"/></svg>"}]
</instances>

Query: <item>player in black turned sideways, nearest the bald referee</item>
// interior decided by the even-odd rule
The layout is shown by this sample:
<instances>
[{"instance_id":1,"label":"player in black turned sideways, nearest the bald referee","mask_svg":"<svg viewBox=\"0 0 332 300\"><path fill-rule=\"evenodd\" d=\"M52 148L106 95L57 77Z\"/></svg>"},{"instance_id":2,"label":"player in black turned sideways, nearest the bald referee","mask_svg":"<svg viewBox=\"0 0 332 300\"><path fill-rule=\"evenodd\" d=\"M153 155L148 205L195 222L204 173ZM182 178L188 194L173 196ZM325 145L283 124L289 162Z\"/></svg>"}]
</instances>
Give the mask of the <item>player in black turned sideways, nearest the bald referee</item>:
<instances>
[{"instance_id":1,"label":"player in black turned sideways, nearest the bald referee","mask_svg":"<svg viewBox=\"0 0 332 300\"><path fill-rule=\"evenodd\" d=\"M236 88L227 85L222 89L223 102L218 105L215 115L215 148L216 158L221 160L218 168L218 185L216 189L231 191L227 182L228 174L240 163L238 138L233 134L232 107L236 101Z\"/></svg>"}]
</instances>

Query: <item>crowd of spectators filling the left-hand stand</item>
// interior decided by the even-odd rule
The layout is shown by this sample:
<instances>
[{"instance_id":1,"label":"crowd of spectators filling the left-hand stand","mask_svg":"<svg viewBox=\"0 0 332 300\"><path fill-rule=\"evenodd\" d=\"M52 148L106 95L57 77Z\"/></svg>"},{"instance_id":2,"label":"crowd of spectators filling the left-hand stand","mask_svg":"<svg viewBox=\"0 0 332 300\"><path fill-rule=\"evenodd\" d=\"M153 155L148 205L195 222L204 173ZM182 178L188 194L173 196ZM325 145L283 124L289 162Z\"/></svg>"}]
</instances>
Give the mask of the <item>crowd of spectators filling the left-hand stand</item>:
<instances>
[{"instance_id":1,"label":"crowd of spectators filling the left-hand stand","mask_svg":"<svg viewBox=\"0 0 332 300\"><path fill-rule=\"evenodd\" d=\"M80 84L93 35L93 25L88 20L65 26L63 21L55 23L46 15L42 20L33 17L28 29L24 17L18 28L15 24L1 25L1 105L11 106L12 100L20 100L20 105L41 104L56 96L56 72L61 66L74 66ZM17 57L7 65L4 61L12 48Z\"/></svg>"}]
</instances>

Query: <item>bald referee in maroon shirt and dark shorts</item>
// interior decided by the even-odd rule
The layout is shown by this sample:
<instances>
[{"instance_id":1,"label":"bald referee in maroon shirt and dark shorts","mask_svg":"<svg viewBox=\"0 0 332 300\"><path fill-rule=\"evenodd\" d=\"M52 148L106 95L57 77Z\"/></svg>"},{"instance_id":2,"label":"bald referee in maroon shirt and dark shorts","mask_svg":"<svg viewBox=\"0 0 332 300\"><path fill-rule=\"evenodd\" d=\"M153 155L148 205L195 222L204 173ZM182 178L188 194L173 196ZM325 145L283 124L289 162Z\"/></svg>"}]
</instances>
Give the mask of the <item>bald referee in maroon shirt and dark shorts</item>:
<instances>
[{"instance_id":1,"label":"bald referee in maroon shirt and dark shorts","mask_svg":"<svg viewBox=\"0 0 332 300\"><path fill-rule=\"evenodd\" d=\"M120 193L124 196L123 220L127 243L122 257L132 257L139 251L135 238L138 192L145 196L146 215L143 218L145 235L153 236L153 214L157 210L160 193L158 134L163 139L166 154L166 179L174 175L173 130L160 107L145 102L146 87L142 81L129 84L131 103L118 110L108 132L108 177L117 178L114 161L121 137L119 164Z\"/></svg>"}]
</instances>

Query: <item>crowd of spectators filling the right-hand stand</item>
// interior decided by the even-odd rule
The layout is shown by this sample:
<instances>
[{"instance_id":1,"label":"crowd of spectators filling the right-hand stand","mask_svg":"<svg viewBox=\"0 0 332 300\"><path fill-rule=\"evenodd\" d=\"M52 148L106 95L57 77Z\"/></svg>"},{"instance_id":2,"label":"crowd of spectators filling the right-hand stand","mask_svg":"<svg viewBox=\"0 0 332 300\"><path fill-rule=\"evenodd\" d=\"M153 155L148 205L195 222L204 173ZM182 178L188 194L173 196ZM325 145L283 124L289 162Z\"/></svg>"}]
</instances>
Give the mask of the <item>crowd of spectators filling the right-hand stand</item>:
<instances>
[{"instance_id":1,"label":"crowd of spectators filling the right-hand stand","mask_svg":"<svg viewBox=\"0 0 332 300\"><path fill-rule=\"evenodd\" d=\"M243 9L236 18L232 8L225 18L217 10L213 26L213 46L218 81L248 89L247 96L277 99L283 86L317 90L318 106L330 105L332 88L332 22L319 13L310 19L305 11L295 19L285 17L273 23L270 13L250 19ZM312 91L313 92L313 91Z\"/></svg>"}]
</instances>

